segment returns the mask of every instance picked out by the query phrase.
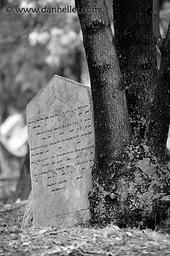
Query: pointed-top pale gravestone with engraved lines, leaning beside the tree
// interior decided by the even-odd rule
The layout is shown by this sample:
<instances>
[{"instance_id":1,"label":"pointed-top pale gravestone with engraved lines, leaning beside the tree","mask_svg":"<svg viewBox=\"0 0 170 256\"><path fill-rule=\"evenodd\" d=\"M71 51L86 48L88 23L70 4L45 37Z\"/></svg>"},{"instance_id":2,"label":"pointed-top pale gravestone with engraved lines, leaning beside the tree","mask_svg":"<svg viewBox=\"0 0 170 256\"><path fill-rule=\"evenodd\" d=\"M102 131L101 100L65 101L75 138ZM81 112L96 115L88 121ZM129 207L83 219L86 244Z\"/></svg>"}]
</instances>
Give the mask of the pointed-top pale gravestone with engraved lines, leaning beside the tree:
<instances>
[{"instance_id":1,"label":"pointed-top pale gravestone with engraved lines, leaning beside the tree","mask_svg":"<svg viewBox=\"0 0 170 256\"><path fill-rule=\"evenodd\" d=\"M54 75L26 108L33 225L89 219L94 158L91 89Z\"/></svg>"}]
</instances>

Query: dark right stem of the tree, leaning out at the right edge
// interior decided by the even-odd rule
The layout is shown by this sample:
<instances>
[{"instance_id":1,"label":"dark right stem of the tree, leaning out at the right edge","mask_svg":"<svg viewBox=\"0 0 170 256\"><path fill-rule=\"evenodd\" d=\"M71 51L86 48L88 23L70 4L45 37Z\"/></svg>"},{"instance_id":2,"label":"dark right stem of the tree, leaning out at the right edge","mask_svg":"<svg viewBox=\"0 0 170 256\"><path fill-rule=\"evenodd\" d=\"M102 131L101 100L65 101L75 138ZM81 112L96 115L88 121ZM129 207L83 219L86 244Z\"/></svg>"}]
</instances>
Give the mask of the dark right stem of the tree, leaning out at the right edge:
<instances>
[{"instance_id":1,"label":"dark right stem of the tree, leaning out at the right edge","mask_svg":"<svg viewBox=\"0 0 170 256\"><path fill-rule=\"evenodd\" d=\"M170 25L161 48L161 64L151 108L147 139L158 157L164 158L170 125Z\"/></svg>"}]
</instances>

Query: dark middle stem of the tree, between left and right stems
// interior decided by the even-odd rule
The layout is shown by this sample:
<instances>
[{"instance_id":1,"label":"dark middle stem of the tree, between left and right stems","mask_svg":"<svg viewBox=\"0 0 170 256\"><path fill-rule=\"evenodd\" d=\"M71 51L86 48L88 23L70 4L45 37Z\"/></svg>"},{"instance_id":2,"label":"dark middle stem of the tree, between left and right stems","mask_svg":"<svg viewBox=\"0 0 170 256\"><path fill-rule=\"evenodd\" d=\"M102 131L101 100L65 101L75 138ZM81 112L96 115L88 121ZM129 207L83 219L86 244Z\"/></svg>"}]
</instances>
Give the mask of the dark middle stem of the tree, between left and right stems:
<instances>
[{"instance_id":1,"label":"dark middle stem of the tree, between left and right stems","mask_svg":"<svg viewBox=\"0 0 170 256\"><path fill-rule=\"evenodd\" d=\"M113 21L131 126L144 138L157 81L152 0L113 0Z\"/></svg>"}]
</instances>

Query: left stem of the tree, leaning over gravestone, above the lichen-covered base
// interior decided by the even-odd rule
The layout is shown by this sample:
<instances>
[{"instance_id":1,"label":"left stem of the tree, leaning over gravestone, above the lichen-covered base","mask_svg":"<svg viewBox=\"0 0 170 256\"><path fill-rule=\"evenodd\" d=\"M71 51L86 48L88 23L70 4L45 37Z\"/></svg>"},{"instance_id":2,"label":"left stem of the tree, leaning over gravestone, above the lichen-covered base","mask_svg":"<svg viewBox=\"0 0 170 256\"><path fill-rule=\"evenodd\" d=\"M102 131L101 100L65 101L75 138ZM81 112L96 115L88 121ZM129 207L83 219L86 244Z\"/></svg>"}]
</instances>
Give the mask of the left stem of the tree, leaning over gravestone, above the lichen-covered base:
<instances>
[{"instance_id":1,"label":"left stem of the tree, leaning over gravestone, above the lichen-covered base","mask_svg":"<svg viewBox=\"0 0 170 256\"><path fill-rule=\"evenodd\" d=\"M91 78L96 153L100 157L101 154L110 156L110 152L119 155L120 147L124 139L130 137L131 131L105 1L76 0L75 3L79 8L100 9L100 13L78 13L78 16Z\"/></svg>"}]
</instances>

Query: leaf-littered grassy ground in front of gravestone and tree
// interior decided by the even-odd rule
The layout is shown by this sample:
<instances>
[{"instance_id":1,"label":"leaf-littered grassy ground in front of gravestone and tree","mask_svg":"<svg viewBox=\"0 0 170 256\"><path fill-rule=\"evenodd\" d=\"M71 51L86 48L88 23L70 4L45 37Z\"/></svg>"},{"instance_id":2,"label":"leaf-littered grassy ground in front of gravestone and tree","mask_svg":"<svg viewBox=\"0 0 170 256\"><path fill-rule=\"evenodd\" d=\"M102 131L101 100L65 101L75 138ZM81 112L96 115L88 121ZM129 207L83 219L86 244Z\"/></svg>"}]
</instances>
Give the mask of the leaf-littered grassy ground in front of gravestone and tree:
<instances>
[{"instance_id":1,"label":"leaf-littered grassy ground in front of gravestone and tree","mask_svg":"<svg viewBox=\"0 0 170 256\"><path fill-rule=\"evenodd\" d=\"M21 230L26 201L0 202L0 256L170 256L163 230L85 227Z\"/></svg>"}]
</instances>

